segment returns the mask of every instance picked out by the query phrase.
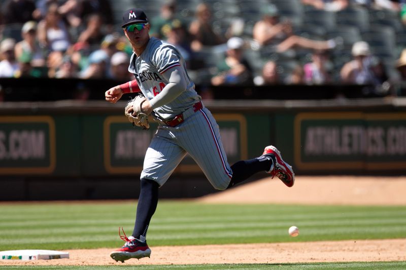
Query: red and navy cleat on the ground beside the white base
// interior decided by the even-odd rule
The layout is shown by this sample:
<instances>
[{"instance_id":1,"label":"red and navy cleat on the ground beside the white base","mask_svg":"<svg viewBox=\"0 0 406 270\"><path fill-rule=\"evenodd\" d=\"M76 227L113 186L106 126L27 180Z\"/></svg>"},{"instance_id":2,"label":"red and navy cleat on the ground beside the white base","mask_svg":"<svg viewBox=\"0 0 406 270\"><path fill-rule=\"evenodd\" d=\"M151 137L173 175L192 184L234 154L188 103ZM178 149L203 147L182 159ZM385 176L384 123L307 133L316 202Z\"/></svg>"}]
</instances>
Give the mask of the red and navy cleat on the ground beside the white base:
<instances>
[{"instance_id":1,"label":"red and navy cleat on the ground beside the white base","mask_svg":"<svg viewBox=\"0 0 406 270\"><path fill-rule=\"evenodd\" d=\"M124 262L131 258L141 259L151 256L151 249L148 247L147 242L142 242L132 236L127 238L125 233L124 236L120 234L120 238L125 241L125 244L120 249L110 253L110 257L112 257L113 260Z\"/></svg>"}]
</instances>

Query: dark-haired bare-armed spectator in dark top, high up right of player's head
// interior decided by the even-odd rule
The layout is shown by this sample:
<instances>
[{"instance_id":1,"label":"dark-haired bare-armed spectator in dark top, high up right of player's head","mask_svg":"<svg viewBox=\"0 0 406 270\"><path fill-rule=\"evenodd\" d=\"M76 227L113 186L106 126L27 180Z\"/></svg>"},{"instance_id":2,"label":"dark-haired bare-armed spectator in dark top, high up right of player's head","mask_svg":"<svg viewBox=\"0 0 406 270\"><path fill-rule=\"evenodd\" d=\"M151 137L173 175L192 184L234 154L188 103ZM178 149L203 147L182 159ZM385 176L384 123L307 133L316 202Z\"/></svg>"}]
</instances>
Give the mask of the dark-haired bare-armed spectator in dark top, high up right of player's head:
<instances>
[{"instance_id":1,"label":"dark-haired bare-armed spectator in dark top, high up right of player's head","mask_svg":"<svg viewBox=\"0 0 406 270\"><path fill-rule=\"evenodd\" d=\"M203 46L215 46L225 42L225 38L216 33L212 27L212 12L209 5L201 3L196 8L196 19L189 27L193 51L200 51Z\"/></svg>"}]
</instances>

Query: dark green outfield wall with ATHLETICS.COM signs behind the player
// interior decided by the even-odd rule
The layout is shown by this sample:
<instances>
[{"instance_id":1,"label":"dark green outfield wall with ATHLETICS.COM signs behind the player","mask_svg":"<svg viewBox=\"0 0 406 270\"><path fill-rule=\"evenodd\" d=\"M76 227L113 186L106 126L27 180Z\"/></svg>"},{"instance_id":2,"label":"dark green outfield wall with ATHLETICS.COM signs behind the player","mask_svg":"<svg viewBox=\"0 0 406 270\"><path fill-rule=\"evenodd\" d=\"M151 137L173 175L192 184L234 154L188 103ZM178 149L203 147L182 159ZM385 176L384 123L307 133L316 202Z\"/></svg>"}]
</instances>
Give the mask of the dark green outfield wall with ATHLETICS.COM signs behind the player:
<instances>
[{"instance_id":1,"label":"dark green outfield wall with ATHLETICS.COM signs behind the player","mask_svg":"<svg viewBox=\"0 0 406 270\"><path fill-rule=\"evenodd\" d=\"M274 144L296 174L405 173L406 98L204 103L218 121L230 163L256 157L264 146ZM3 103L0 198L42 199L49 189L60 194L54 199L71 199L66 194L77 194L75 199L122 198L111 180L125 187L127 180L139 177L157 126L152 122L149 131L133 128L122 114L124 105L73 100ZM211 190L190 158L173 178L179 180L173 180L178 182L167 197L195 197ZM200 180L184 178L202 179L205 188ZM104 189L94 191L100 183L106 183Z\"/></svg>"}]
</instances>

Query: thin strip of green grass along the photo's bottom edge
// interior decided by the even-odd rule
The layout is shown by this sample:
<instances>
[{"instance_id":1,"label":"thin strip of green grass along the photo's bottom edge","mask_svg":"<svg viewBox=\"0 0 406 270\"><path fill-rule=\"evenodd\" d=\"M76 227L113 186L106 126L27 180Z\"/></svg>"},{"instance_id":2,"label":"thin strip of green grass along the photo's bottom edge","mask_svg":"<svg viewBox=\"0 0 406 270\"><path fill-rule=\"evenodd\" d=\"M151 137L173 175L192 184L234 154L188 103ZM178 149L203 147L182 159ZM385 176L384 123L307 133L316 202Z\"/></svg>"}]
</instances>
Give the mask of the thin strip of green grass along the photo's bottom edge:
<instances>
[{"instance_id":1,"label":"thin strip of green grass along the photo's bottom edge","mask_svg":"<svg viewBox=\"0 0 406 270\"><path fill-rule=\"evenodd\" d=\"M160 269L182 269L182 270L226 270L226 269L346 269L346 270L358 270L358 269L405 269L406 262L333 262L333 263L275 263L275 264L185 264L185 265L121 265L121 266L6 266L2 269L52 269L52 270L132 270L142 268L143 270L160 270Z\"/></svg>"}]
</instances>

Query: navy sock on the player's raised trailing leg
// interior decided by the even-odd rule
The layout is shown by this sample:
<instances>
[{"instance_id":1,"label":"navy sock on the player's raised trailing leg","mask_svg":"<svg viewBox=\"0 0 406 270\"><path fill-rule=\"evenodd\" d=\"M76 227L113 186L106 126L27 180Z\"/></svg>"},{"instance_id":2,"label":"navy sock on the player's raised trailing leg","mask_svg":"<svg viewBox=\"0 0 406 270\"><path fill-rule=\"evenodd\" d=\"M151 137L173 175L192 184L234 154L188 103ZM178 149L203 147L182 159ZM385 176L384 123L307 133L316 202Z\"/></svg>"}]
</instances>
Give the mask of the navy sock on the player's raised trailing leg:
<instances>
[{"instance_id":1,"label":"navy sock on the player's raised trailing leg","mask_svg":"<svg viewBox=\"0 0 406 270\"><path fill-rule=\"evenodd\" d=\"M232 178L227 188L246 180L254 173L269 171L272 165L272 159L264 156L252 160L242 160L234 163L231 166Z\"/></svg>"}]
</instances>

